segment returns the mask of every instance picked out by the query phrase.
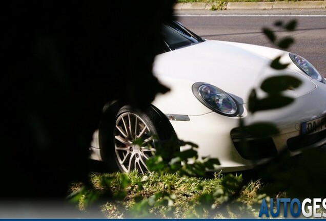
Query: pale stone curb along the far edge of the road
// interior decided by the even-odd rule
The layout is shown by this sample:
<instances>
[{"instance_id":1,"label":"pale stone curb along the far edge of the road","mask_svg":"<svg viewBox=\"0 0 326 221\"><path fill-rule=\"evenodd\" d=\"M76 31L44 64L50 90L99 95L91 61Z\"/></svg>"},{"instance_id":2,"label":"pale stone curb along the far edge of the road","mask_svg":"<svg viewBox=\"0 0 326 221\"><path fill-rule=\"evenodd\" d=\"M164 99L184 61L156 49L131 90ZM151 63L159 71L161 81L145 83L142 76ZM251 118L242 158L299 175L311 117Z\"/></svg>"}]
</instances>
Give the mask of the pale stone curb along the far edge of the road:
<instances>
[{"instance_id":1,"label":"pale stone curb along the far edge of the road","mask_svg":"<svg viewBox=\"0 0 326 221\"><path fill-rule=\"evenodd\" d=\"M210 10L212 4L207 3L177 3L175 10ZM326 9L326 1L303 2L229 2L226 10L232 9Z\"/></svg>"}]
</instances>

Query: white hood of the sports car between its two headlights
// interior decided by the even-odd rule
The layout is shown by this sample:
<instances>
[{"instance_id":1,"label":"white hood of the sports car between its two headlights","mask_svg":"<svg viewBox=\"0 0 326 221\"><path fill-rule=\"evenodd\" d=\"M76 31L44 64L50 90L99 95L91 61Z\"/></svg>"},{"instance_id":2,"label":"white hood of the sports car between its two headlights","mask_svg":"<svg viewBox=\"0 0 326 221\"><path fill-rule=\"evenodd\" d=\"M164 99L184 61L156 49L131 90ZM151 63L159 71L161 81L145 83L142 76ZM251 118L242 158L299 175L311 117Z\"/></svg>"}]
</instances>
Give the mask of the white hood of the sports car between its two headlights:
<instances>
[{"instance_id":1,"label":"white hood of the sports car between its two headlights","mask_svg":"<svg viewBox=\"0 0 326 221\"><path fill-rule=\"evenodd\" d=\"M153 72L163 82L170 78L190 84L213 84L240 104L247 103L250 91L260 85L263 79L273 75L286 73L303 82L299 89L288 92L293 97L307 94L316 87L311 78L291 68L295 65L282 71L271 69L271 60L279 55L282 55L283 62L293 64L288 52L243 43L207 40L156 56Z\"/></svg>"}]
</instances>

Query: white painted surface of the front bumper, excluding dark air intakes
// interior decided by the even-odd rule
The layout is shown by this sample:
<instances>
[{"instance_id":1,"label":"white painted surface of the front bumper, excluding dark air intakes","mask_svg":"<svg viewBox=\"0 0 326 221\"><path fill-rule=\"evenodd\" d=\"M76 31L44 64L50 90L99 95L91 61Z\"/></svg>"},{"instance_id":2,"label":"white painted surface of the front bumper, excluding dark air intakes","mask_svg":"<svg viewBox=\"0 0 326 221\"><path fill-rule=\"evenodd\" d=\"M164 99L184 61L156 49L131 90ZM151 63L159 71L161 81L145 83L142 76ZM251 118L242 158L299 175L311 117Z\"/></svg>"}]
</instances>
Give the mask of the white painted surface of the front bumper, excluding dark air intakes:
<instances>
[{"instance_id":1,"label":"white painted surface of the front bumper, excluding dark air intakes","mask_svg":"<svg viewBox=\"0 0 326 221\"><path fill-rule=\"evenodd\" d=\"M324 96L326 90L315 90L296 99L289 107L271 111L257 112L255 115L242 117L246 124L255 122L271 122L280 129L280 134L273 137L278 152L287 148L290 138L301 135L301 123L326 114L326 102L317 102L316 97ZM307 106L306 109L302 106ZM248 108L244 105L244 109ZM299 111L300 110L300 111ZM246 111L245 111L246 112ZM200 116L189 116L190 121L171 121L172 126L181 140L191 141L199 146L200 157L218 158L221 166L216 170L236 171L252 168L255 164L266 162L269 159L251 161L243 159L235 149L230 131L239 126L240 117L221 116L211 112ZM326 144L326 138L316 145ZM312 146L314 147L314 146ZM263 147L262 147L263 148ZM290 152L298 154L299 151Z\"/></svg>"}]
</instances>

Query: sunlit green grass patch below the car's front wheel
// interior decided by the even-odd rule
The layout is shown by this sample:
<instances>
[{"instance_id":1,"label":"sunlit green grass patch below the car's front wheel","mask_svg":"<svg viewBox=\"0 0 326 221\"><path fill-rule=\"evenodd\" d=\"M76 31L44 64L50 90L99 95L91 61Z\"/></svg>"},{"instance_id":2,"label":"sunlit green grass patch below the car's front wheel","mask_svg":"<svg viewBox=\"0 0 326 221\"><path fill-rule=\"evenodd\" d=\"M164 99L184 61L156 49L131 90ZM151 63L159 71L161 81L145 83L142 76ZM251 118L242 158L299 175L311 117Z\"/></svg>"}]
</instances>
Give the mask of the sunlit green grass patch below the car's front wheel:
<instances>
[{"instance_id":1,"label":"sunlit green grass patch below the car's front wheel","mask_svg":"<svg viewBox=\"0 0 326 221\"><path fill-rule=\"evenodd\" d=\"M233 191L226 188L224 183L227 178L220 173L215 173L210 179L191 178L179 174L141 175L137 172L92 173L90 176L96 191L107 197L102 198L100 204L100 210L107 218L238 218L248 215L248 211L252 217L257 217L252 205L256 201L257 191L262 187L260 181L252 181L244 187L238 202L245 203L249 209L231 212L234 210L218 210L219 205L227 200L229 193L232 194ZM127 178L128 184L121 186L124 178ZM241 175L234 175L233 178L241 180ZM106 179L110 180L109 185L103 184L103 180ZM76 191L79 188L80 184L74 184L71 190ZM212 205L205 201L205 197L223 191L228 194L221 194L219 200L215 198ZM89 192L80 197L79 210L88 211L89 198L91 198ZM207 208L212 206L217 208L216 212L209 214Z\"/></svg>"}]
</instances>

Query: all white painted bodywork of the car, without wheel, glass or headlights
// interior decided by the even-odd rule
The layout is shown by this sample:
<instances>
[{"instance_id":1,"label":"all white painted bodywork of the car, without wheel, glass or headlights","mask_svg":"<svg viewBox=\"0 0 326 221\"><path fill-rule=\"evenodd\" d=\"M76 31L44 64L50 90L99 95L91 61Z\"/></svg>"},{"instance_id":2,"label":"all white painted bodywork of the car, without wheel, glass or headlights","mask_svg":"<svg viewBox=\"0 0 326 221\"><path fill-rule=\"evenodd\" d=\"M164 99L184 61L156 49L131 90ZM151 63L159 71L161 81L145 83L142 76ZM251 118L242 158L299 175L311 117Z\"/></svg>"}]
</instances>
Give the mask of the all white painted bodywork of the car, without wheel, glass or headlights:
<instances>
[{"instance_id":1,"label":"all white painted bodywork of the car, without wheel, glass or headlights","mask_svg":"<svg viewBox=\"0 0 326 221\"><path fill-rule=\"evenodd\" d=\"M178 23L174 25L178 26ZM182 33L185 34L187 33ZM153 73L171 91L157 95L152 104L168 116L180 140L199 146L199 157L218 158L221 165L216 165L215 170L223 172L249 169L269 161L270 157L250 160L239 152L232 131L239 127L240 119L245 125L257 122L274 124L279 129L279 134L268 139L277 153L289 151L293 156L304 148L326 146L326 136L323 133L316 140L307 141L303 138L307 145L302 148L289 148L289 141L303 135L305 122L326 116L326 84L298 68L289 52L246 43L216 40L201 42L200 37L194 37L198 40L196 43L176 50L170 48L172 51L156 56ZM167 42L166 45L168 46ZM289 64L281 71L270 67L271 61L278 56L281 57L281 63ZM281 108L250 113L248 100L252 89L256 90L258 98L263 98L266 93L260 89L260 85L264 79L282 75L290 75L301 81L299 87L282 92L295 98L294 101ZM196 82L212 84L228 93L237 104L238 114L224 116L203 105L192 91ZM255 141L256 138L249 137L248 140L250 139ZM181 147L181 151L184 148L188 147ZM262 145L261 148L265 146ZM91 159L103 160L98 130L94 132L90 149Z\"/></svg>"}]
</instances>

